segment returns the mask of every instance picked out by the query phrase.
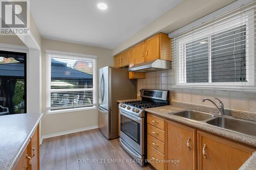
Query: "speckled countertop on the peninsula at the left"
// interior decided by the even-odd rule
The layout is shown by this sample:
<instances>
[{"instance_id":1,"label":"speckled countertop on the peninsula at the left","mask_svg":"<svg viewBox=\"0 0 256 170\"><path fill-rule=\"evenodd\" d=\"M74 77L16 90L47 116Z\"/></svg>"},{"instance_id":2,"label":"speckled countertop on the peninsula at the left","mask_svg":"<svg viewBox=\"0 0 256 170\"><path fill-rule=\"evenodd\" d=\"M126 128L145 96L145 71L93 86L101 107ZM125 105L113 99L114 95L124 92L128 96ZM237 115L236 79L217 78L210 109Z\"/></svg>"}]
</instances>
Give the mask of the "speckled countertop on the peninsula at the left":
<instances>
[{"instance_id":1,"label":"speckled countertop on the peninsula at the left","mask_svg":"<svg viewBox=\"0 0 256 170\"><path fill-rule=\"evenodd\" d=\"M41 117L41 113L0 116L0 169L13 169Z\"/></svg>"}]
</instances>

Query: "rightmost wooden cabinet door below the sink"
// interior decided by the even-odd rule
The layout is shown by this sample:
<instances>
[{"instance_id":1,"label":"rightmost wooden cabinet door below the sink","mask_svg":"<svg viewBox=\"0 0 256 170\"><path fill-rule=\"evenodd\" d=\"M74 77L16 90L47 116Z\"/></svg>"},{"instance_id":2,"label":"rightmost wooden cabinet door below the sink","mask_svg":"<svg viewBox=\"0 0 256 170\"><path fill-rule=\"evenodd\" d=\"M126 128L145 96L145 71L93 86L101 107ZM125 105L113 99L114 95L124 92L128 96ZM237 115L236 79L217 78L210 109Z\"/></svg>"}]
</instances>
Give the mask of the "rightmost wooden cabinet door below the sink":
<instances>
[{"instance_id":1,"label":"rightmost wooden cabinet door below the sink","mask_svg":"<svg viewBox=\"0 0 256 170\"><path fill-rule=\"evenodd\" d=\"M198 169L238 169L252 152L245 145L198 131Z\"/></svg>"}]
</instances>

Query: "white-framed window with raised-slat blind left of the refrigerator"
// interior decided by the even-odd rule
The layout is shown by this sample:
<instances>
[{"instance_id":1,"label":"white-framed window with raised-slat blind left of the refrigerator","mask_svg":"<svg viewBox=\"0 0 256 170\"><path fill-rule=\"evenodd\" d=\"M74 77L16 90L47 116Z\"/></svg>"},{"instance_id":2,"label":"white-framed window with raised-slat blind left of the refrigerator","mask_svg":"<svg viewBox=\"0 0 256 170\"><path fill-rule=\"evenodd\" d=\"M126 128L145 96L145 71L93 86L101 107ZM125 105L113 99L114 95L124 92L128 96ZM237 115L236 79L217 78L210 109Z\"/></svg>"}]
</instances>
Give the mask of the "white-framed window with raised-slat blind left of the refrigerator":
<instances>
[{"instance_id":1,"label":"white-framed window with raised-slat blind left of the refrigerator","mask_svg":"<svg viewBox=\"0 0 256 170\"><path fill-rule=\"evenodd\" d=\"M96 57L54 51L47 56L48 112L95 108Z\"/></svg>"}]
</instances>

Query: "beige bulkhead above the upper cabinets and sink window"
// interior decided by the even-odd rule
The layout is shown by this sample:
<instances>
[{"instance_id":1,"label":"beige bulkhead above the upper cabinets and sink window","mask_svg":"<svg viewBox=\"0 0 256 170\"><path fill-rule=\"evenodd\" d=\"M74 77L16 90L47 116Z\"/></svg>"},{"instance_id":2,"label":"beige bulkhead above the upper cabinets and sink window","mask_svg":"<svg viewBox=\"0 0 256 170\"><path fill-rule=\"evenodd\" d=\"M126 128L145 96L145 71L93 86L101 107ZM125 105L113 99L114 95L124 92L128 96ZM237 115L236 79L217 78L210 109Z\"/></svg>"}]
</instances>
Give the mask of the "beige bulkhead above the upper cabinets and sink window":
<instances>
[{"instance_id":1,"label":"beige bulkhead above the upper cabinets and sink window","mask_svg":"<svg viewBox=\"0 0 256 170\"><path fill-rule=\"evenodd\" d=\"M113 50L113 55L157 32L170 33L236 0L184 0Z\"/></svg>"}]
</instances>

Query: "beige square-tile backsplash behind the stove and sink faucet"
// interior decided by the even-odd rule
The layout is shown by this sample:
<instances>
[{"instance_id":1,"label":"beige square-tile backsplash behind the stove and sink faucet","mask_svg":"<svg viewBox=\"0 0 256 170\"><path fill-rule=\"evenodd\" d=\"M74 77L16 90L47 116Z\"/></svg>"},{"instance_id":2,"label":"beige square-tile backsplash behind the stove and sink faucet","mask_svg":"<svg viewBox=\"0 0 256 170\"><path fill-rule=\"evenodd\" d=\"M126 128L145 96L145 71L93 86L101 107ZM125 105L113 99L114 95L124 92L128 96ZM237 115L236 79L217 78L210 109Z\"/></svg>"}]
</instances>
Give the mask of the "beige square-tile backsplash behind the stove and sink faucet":
<instances>
[{"instance_id":1,"label":"beige square-tile backsplash behind the stove and sink faucet","mask_svg":"<svg viewBox=\"0 0 256 170\"><path fill-rule=\"evenodd\" d=\"M176 84L174 69L148 72L145 79L138 79L137 94L141 88L170 90L172 101L213 106L210 102L201 102L203 98L219 98L227 109L241 110L256 113L256 93L233 92L224 90L200 90L200 89L174 89Z\"/></svg>"}]
</instances>

